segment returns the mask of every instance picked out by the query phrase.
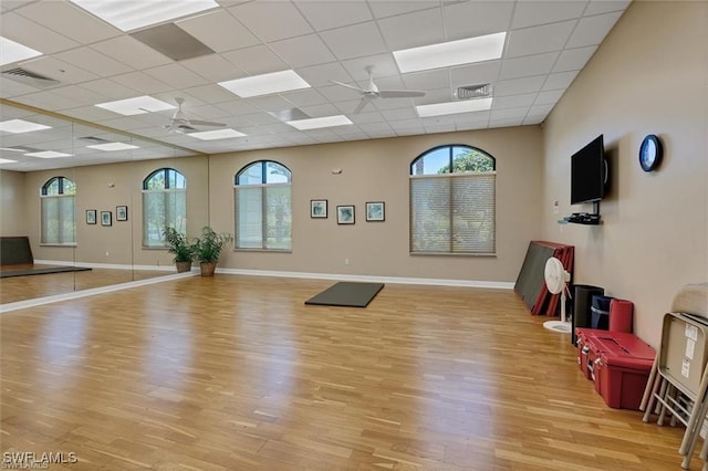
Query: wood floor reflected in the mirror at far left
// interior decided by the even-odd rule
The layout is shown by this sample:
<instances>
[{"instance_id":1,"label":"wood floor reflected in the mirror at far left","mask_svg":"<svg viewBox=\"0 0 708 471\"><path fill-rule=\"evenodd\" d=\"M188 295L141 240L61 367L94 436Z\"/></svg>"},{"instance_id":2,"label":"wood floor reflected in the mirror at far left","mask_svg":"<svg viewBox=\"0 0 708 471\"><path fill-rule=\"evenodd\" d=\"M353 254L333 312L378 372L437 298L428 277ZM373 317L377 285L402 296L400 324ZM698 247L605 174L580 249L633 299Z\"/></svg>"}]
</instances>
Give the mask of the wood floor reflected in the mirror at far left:
<instances>
[{"instance_id":1,"label":"wood floor reflected in the mirror at far left","mask_svg":"<svg viewBox=\"0 0 708 471\"><path fill-rule=\"evenodd\" d=\"M50 265L13 265L3 266L2 270L30 270L33 266L44 268ZM65 294L72 291L108 286L174 273L176 273L176 271L92 269L82 272L2 278L0 279L0 304L33 300L35 297L51 296L54 294Z\"/></svg>"}]
</instances>

